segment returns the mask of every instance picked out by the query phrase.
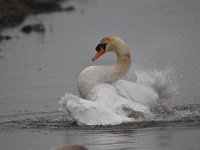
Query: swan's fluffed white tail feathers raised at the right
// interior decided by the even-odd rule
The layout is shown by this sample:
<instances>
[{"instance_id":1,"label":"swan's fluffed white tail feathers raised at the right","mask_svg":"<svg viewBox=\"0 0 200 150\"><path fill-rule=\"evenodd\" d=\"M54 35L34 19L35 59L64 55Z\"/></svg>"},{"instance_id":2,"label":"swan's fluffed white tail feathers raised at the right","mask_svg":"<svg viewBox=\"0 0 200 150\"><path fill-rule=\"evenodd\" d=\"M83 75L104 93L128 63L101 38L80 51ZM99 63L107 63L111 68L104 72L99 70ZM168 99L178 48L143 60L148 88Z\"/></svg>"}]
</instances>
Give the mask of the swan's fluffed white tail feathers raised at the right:
<instances>
[{"instance_id":1,"label":"swan's fluffed white tail feathers raised at the right","mask_svg":"<svg viewBox=\"0 0 200 150\"><path fill-rule=\"evenodd\" d=\"M172 70L137 72L137 83L152 87L159 96L159 101L170 99L177 93L175 73Z\"/></svg>"}]
</instances>

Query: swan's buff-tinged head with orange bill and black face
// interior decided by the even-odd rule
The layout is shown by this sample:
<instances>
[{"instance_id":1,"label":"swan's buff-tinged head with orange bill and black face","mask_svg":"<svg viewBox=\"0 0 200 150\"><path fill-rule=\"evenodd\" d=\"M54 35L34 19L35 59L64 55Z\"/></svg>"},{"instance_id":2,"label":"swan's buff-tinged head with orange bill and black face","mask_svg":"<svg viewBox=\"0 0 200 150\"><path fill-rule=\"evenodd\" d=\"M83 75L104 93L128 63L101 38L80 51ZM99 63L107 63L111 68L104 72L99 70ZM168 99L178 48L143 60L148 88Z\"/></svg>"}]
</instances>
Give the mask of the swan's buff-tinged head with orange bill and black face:
<instances>
[{"instance_id":1,"label":"swan's buff-tinged head with orange bill and black face","mask_svg":"<svg viewBox=\"0 0 200 150\"><path fill-rule=\"evenodd\" d=\"M96 46L97 53L92 58L92 61L95 61L101 55L106 52L116 52L119 53L120 49L127 47L125 42L116 36L106 36L100 40L100 43Z\"/></svg>"}]
</instances>

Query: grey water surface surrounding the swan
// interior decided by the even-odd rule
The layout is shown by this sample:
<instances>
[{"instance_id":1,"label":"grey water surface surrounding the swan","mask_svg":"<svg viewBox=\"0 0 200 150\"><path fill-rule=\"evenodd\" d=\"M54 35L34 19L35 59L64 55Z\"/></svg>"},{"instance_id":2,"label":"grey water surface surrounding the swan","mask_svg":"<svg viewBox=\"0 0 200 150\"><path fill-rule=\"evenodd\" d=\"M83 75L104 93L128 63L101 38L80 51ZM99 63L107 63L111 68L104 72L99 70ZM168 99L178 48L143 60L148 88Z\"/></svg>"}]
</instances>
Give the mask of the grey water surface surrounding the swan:
<instances>
[{"instance_id":1,"label":"grey water surface surrounding the swan","mask_svg":"<svg viewBox=\"0 0 200 150\"><path fill-rule=\"evenodd\" d=\"M89 149L199 149L200 9L198 0L74 0L71 13L30 16L44 34L4 31L0 45L0 148L44 150L61 143ZM78 126L58 111L65 92L77 93L82 69L93 65L97 41L121 37L134 69L173 69L179 94L167 105L175 115L120 126ZM96 64L112 64L112 54ZM190 104L190 105L188 105ZM25 142L24 142L25 141Z\"/></svg>"}]
</instances>

